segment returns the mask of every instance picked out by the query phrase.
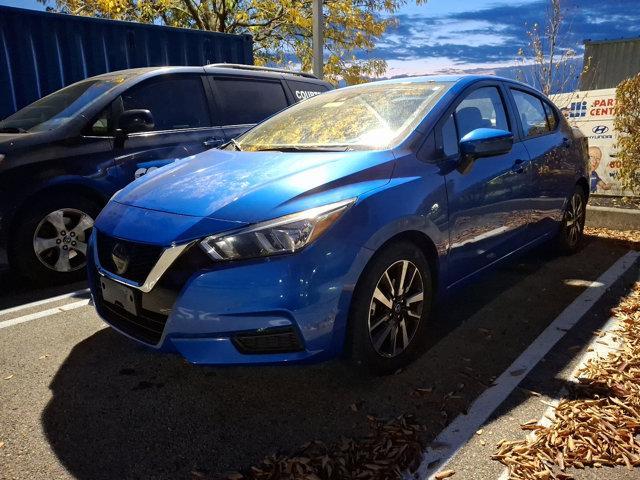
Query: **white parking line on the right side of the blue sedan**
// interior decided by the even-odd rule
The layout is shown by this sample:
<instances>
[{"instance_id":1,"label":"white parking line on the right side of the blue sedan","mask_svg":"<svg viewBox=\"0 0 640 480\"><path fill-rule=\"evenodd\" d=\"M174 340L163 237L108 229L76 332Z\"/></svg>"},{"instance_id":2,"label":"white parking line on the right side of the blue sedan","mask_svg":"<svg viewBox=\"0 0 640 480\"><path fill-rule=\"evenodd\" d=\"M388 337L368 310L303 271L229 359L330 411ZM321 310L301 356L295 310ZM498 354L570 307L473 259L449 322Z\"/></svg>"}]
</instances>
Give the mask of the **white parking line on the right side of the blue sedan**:
<instances>
[{"instance_id":1,"label":"white parking line on the right side of the blue sedan","mask_svg":"<svg viewBox=\"0 0 640 480\"><path fill-rule=\"evenodd\" d=\"M597 300L638 259L640 252L627 252L597 281L591 282L529 347L471 405L467 415L458 415L435 438L433 448L427 448L417 471L420 479L433 479L447 465L464 444L506 400L527 374L551 348L589 311Z\"/></svg>"}]
</instances>

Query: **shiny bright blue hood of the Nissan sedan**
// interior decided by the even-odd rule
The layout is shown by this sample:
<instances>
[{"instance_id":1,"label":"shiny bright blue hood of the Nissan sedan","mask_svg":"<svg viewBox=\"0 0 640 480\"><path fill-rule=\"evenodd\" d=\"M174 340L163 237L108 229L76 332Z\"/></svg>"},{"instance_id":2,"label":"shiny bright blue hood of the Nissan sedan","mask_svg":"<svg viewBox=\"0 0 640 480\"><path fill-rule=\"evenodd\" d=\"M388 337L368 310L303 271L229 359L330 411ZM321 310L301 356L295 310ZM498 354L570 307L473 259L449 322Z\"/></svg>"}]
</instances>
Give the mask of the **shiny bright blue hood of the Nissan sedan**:
<instances>
[{"instance_id":1,"label":"shiny bright blue hood of the Nissan sedan","mask_svg":"<svg viewBox=\"0 0 640 480\"><path fill-rule=\"evenodd\" d=\"M357 197L388 183L393 165L391 151L210 150L136 180L114 201L179 215L254 223Z\"/></svg>"}]
</instances>

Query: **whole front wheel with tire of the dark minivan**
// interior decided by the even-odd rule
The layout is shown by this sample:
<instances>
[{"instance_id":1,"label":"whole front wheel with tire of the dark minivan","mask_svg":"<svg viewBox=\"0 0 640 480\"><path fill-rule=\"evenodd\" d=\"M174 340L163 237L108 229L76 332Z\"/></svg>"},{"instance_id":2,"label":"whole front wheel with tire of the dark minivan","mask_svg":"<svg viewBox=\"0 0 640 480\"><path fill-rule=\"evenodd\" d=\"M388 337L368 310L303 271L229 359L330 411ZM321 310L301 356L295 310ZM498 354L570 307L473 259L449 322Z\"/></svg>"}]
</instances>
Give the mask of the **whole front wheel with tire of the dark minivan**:
<instances>
[{"instance_id":1,"label":"whole front wheel with tire of the dark minivan","mask_svg":"<svg viewBox=\"0 0 640 480\"><path fill-rule=\"evenodd\" d=\"M84 279L86 246L100 206L59 192L43 193L30 203L18 212L10 232L12 268L39 285Z\"/></svg>"}]
</instances>

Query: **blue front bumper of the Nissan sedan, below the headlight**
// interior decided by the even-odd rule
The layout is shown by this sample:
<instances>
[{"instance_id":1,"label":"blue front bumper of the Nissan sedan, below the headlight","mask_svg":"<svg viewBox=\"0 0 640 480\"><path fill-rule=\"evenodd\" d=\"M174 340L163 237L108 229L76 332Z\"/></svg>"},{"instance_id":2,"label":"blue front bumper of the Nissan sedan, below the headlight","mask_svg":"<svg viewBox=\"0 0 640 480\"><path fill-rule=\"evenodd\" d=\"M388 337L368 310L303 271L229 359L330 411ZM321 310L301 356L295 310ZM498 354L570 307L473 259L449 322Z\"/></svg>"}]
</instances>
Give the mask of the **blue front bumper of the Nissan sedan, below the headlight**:
<instances>
[{"instance_id":1,"label":"blue front bumper of the Nissan sedan, below the headlight","mask_svg":"<svg viewBox=\"0 0 640 480\"><path fill-rule=\"evenodd\" d=\"M101 276L117 277L100 266L96 236L88 272L98 314L153 349L210 365L311 362L338 355L351 294L372 254L326 235L295 254L216 264L194 243L153 289L133 289L139 305L155 310L141 310L149 317L143 320L118 316L102 299ZM134 325L148 322L156 328L163 321L157 338L145 338Z\"/></svg>"}]
</instances>

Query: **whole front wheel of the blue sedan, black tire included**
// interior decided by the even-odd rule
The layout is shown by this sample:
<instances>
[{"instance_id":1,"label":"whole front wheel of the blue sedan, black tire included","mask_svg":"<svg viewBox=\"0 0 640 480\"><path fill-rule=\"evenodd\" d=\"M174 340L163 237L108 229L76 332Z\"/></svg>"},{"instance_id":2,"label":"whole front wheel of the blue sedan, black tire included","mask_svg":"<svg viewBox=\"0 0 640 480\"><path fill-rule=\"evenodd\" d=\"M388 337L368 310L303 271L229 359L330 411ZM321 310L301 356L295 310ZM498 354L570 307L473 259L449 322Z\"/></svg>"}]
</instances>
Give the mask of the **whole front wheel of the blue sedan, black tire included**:
<instances>
[{"instance_id":1,"label":"whole front wheel of the blue sedan, black tire included","mask_svg":"<svg viewBox=\"0 0 640 480\"><path fill-rule=\"evenodd\" d=\"M411 242L394 242L375 255L351 303L350 353L356 366L386 375L422 353L433 301L431 279L429 262Z\"/></svg>"}]
</instances>

